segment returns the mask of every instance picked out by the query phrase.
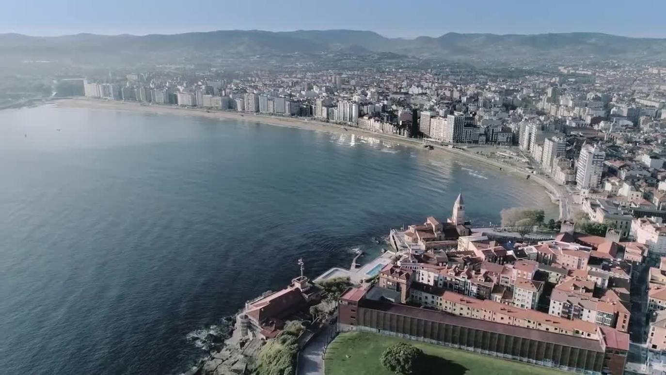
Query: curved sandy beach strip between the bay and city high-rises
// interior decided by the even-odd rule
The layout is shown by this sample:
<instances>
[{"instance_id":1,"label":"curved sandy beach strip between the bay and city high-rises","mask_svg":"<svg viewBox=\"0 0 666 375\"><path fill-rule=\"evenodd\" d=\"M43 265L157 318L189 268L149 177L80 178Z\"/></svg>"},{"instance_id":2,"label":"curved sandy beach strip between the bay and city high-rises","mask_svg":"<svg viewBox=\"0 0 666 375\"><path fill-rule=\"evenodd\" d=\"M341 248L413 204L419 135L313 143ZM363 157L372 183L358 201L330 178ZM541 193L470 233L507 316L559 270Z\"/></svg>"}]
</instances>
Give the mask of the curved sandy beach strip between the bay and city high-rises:
<instances>
[{"instance_id":1,"label":"curved sandy beach strip between the bay and city high-rises","mask_svg":"<svg viewBox=\"0 0 666 375\"><path fill-rule=\"evenodd\" d=\"M105 101L101 99L54 99L53 103L57 107L61 108L87 108L87 109L111 109L114 111L129 111L129 112L139 112L139 113L153 113L155 115L180 115L180 116L199 116L207 117L210 119L232 119L238 121L254 121L266 125L274 125L278 127L290 127L294 129L305 129L310 131L324 131L326 133L332 134L352 134L352 135L370 135L384 141L390 141L402 146L408 147L423 147L426 143L419 139L409 139L398 135L390 135L386 133L376 133L374 131L368 131L365 129L358 129L351 126L338 125L332 123L324 123L323 121L316 120L306 120L301 117L280 117L280 116L269 116L269 115L259 115L255 113L239 113L237 111L216 111L216 110L206 110L206 109L190 109L182 108L171 105L145 105L138 102L126 102L126 101ZM344 128L344 129L343 129ZM494 159L489 159L482 155L478 155L473 151L468 151L467 149L453 149L446 146L441 146L437 144L427 143L434 146L434 150L430 151L431 153L448 153L458 155L460 157L466 157L474 159L479 163L488 165L490 167L495 167L501 169L501 172L504 175L511 175L515 173L523 178L529 176L530 181L533 181L537 185L546 188L546 196L553 202L553 197L557 198L558 202L553 204L558 204L559 206L559 218L569 218L571 216L568 212L567 204L570 199L570 194L566 192L564 187L559 187L559 185L551 183L547 179L543 178L540 175L532 174L528 171L523 171L519 167L502 163L501 161L496 161ZM557 187L556 187L557 186Z\"/></svg>"}]
</instances>

